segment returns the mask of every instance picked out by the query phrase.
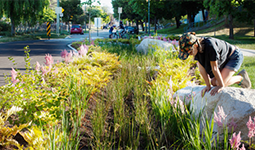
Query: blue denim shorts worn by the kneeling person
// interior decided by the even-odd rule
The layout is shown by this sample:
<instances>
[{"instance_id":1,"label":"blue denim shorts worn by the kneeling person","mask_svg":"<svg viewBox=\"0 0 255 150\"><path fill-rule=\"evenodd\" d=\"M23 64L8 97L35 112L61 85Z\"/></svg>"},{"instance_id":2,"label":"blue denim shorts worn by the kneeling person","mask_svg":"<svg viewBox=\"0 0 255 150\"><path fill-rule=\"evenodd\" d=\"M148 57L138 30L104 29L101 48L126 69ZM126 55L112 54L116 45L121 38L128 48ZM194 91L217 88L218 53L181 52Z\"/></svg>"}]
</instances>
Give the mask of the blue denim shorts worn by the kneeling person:
<instances>
[{"instance_id":1,"label":"blue denim shorts worn by the kneeling person","mask_svg":"<svg viewBox=\"0 0 255 150\"><path fill-rule=\"evenodd\" d=\"M236 49L228 60L229 61L224 68L237 72L243 63L243 53L240 51L240 49Z\"/></svg>"}]
</instances>

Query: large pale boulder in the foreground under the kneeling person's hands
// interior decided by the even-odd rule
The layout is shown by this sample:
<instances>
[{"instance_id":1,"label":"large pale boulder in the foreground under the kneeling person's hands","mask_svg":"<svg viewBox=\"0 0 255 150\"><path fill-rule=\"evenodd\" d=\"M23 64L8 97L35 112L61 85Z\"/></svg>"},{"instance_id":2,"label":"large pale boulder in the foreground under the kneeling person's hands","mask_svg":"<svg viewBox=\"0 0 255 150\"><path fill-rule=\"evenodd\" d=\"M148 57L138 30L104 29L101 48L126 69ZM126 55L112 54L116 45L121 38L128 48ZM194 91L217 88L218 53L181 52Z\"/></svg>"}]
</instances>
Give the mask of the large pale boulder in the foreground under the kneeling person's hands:
<instances>
[{"instance_id":1,"label":"large pale boulder in the foreground under the kneeling person's hands","mask_svg":"<svg viewBox=\"0 0 255 150\"><path fill-rule=\"evenodd\" d=\"M236 128L234 132L238 134L241 131L242 140L248 140L248 128L246 123L249 120L249 116L252 119L255 117L255 90L243 89L235 87L226 87L220 93L215 96L211 96L207 92L204 97L201 97L201 90L205 86L188 86L180 89L176 92L174 97L179 95L180 100L190 100L193 95L193 102L190 107L196 117L198 117L202 110L202 115L207 116L208 120L212 121L214 112L218 112L218 107L221 106L227 115L224 122L225 125L234 122ZM178 93L178 94L177 94ZM189 102L186 101L185 102ZM217 132L220 127L217 127L217 123L214 123L214 131ZM232 135L231 135L232 136Z\"/></svg>"}]
</instances>

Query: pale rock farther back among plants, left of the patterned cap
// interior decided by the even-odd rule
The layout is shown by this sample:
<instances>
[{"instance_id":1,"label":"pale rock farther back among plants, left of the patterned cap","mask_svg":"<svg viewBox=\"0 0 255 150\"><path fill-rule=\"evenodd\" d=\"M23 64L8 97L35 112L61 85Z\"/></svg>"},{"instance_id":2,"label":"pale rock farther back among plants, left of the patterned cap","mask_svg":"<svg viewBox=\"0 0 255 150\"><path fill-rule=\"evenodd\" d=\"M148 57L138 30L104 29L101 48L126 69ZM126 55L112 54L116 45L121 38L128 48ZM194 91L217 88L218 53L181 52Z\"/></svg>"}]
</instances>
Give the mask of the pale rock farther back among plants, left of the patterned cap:
<instances>
[{"instance_id":1,"label":"pale rock farther back among plants, left of the patterned cap","mask_svg":"<svg viewBox=\"0 0 255 150\"><path fill-rule=\"evenodd\" d=\"M157 45L158 47L161 47L165 50L171 50L171 51L176 51L173 44L161 41L161 40L156 40L156 39L144 39L142 42L136 47L137 52L143 53L143 54L148 54L148 50L152 49L154 50L155 48L153 45Z\"/></svg>"}]
</instances>

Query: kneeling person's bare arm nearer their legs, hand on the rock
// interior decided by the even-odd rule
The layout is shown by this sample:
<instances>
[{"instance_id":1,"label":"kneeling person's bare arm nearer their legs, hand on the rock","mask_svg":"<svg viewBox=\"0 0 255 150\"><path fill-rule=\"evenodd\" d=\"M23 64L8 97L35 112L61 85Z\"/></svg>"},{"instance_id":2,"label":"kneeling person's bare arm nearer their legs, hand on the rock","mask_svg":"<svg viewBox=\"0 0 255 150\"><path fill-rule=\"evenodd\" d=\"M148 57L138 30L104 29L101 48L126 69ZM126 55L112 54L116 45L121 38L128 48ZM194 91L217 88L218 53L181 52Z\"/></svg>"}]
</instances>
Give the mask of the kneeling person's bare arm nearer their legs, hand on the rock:
<instances>
[{"instance_id":1,"label":"kneeling person's bare arm nearer their legs, hand on the rock","mask_svg":"<svg viewBox=\"0 0 255 150\"><path fill-rule=\"evenodd\" d=\"M210 64L211 64L214 77L216 78L216 84L217 84L217 86L211 91L211 95L215 95L216 93L219 93L225 85L224 85L224 81L222 79L220 70L218 68L217 61L210 61Z\"/></svg>"}]
</instances>

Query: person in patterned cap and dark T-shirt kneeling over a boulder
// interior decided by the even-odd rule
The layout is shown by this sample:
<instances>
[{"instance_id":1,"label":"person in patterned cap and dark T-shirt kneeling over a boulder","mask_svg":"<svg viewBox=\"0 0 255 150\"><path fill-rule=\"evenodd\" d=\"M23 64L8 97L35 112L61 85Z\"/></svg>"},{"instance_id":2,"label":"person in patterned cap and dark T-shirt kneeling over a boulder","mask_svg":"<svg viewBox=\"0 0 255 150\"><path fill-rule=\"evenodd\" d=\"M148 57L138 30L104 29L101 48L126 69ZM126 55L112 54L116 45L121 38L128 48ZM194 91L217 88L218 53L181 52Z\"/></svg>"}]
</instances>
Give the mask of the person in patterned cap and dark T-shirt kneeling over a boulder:
<instances>
[{"instance_id":1,"label":"person in patterned cap and dark T-shirt kneeling over a boulder","mask_svg":"<svg viewBox=\"0 0 255 150\"><path fill-rule=\"evenodd\" d=\"M251 88L250 78L244 69L233 76L243 62L243 53L238 47L212 37L197 37L195 32L189 32L180 37L179 48L180 59L185 60L192 55L198 61L206 84L201 96L211 90L211 85L214 86L211 95L232 84Z\"/></svg>"}]
</instances>

